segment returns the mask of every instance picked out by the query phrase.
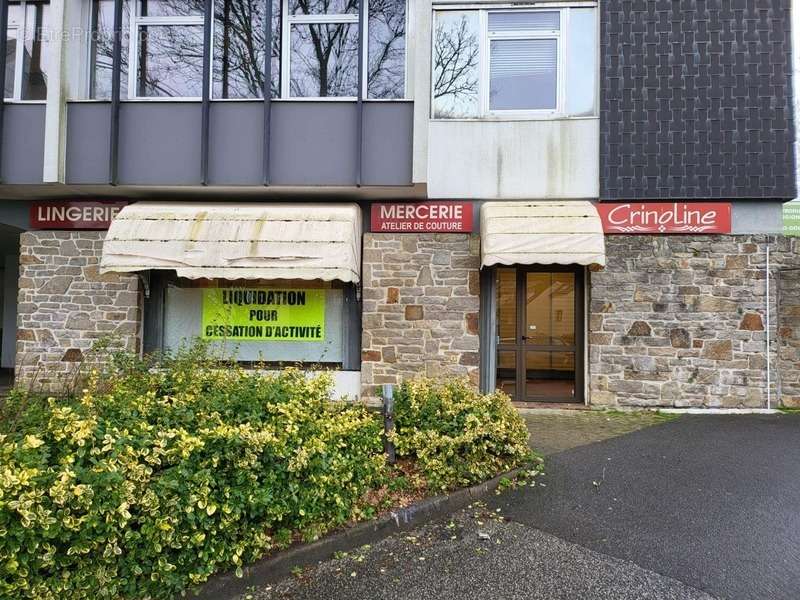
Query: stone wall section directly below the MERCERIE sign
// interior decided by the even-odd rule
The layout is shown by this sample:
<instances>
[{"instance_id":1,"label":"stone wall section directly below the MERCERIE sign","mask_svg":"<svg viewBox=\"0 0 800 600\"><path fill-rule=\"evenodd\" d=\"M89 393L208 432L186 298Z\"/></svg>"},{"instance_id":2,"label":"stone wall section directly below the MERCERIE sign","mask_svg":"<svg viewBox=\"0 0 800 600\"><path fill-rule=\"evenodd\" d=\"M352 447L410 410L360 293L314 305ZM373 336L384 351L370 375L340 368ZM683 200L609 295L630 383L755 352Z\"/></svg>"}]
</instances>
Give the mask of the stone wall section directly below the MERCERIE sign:
<instances>
[{"instance_id":1,"label":"stone wall section directly below the MERCERIE sign","mask_svg":"<svg viewBox=\"0 0 800 600\"><path fill-rule=\"evenodd\" d=\"M480 240L364 235L363 396L416 375L478 382Z\"/></svg>"}]
</instances>

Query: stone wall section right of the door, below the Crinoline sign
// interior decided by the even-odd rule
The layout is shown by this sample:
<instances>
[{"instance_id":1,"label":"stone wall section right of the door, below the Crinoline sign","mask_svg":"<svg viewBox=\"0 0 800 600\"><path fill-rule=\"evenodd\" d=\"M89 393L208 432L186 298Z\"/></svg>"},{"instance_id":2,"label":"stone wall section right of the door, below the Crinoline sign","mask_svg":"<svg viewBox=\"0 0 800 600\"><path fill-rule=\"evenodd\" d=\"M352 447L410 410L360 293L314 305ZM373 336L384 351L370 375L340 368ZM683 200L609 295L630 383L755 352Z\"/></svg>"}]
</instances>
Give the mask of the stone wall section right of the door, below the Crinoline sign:
<instances>
[{"instance_id":1,"label":"stone wall section right of the door, below the Crinoline sign","mask_svg":"<svg viewBox=\"0 0 800 600\"><path fill-rule=\"evenodd\" d=\"M590 402L766 406L766 242L607 236L607 268L592 273L589 286ZM800 266L797 240L771 236L770 245L773 273ZM771 292L774 316L775 286ZM773 322L773 359L781 343L798 339L798 325L787 322L781 341ZM773 398L778 373L798 366L797 345L773 363Z\"/></svg>"}]
</instances>

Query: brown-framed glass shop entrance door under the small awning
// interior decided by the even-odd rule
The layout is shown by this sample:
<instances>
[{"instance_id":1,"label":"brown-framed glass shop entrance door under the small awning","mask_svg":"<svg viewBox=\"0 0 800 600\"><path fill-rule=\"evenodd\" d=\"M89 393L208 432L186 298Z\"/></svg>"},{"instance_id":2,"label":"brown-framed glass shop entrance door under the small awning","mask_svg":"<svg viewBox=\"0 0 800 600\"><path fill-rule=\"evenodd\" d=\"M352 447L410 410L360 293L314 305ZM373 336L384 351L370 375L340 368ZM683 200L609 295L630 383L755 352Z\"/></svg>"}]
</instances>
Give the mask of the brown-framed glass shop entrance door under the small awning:
<instances>
[{"instance_id":1,"label":"brown-framed glass shop entrance door under the small awning","mask_svg":"<svg viewBox=\"0 0 800 600\"><path fill-rule=\"evenodd\" d=\"M517 402L583 402L583 270L497 269L497 388Z\"/></svg>"}]
</instances>

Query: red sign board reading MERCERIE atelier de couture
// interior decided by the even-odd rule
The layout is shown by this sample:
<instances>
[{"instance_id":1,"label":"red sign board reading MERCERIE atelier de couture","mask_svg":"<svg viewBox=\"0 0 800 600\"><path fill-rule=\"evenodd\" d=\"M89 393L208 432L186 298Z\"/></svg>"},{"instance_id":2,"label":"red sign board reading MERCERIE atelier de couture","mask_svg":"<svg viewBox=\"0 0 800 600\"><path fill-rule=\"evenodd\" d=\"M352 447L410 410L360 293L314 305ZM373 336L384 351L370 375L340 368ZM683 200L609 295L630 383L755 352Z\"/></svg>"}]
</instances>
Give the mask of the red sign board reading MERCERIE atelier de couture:
<instances>
[{"instance_id":1,"label":"red sign board reading MERCERIE atelier de couture","mask_svg":"<svg viewBox=\"0 0 800 600\"><path fill-rule=\"evenodd\" d=\"M472 202L387 202L372 205L373 233L470 233Z\"/></svg>"}]
</instances>

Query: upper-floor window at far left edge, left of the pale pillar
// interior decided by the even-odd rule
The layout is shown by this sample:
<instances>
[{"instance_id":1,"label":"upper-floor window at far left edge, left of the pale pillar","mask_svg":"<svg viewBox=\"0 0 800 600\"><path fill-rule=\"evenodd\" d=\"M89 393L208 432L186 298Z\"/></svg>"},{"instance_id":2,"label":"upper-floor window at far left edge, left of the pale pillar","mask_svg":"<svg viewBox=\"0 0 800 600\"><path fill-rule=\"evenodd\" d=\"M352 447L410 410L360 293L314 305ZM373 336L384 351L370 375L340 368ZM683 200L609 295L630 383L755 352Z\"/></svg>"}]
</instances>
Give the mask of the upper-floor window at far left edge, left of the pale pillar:
<instances>
[{"instance_id":1,"label":"upper-floor window at far left edge, left of the pale pillar","mask_svg":"<svg viewBox=\"0 0 800 600\"><path fill-rule=\"evenodd\" d=\"M46 100L50 4L8 3L6 100Z\"/></svg>"}]
</instances>

